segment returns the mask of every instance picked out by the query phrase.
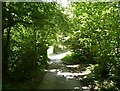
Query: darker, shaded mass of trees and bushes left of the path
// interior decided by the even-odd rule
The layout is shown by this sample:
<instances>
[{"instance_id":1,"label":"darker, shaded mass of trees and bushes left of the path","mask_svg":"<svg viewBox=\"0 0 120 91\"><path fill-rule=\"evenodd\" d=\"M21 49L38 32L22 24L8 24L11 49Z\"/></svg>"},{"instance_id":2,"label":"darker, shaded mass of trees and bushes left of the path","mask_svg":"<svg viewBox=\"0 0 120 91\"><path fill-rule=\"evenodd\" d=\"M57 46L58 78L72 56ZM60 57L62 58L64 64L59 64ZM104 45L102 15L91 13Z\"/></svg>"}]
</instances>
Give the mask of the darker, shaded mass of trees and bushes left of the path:
<instances>
[{"instance_id":1,"label":"darker, shaded mass of trees and bushes left of the path","mask_svg":"<svg viewBox=\"0 0 120 91\"><path fill-rule=\"evenodd\" d=\"M55 2L2 3L3 87L24 81L48 67L47 49L56 45L68 24Z\"/></svg>"}]
</instances>

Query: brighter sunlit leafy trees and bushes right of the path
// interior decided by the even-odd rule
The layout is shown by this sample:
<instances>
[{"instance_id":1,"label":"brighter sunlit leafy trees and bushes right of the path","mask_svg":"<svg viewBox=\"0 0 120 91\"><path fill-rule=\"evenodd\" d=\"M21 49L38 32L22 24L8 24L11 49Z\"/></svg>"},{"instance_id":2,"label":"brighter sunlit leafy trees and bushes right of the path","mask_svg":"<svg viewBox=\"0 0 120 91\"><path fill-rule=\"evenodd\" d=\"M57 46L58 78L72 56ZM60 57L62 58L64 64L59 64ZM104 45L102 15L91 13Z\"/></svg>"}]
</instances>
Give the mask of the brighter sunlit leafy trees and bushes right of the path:
<instances>
[{"instance_id":1,"label":"brighter sunlit leafy trees and bushes right of the path","mask_svg":"<svg viewBox=\"0 0 120 91\"><path fill-rule=\"evenodd\" d=\"M101 89L120 89L120 3L73 3L71 36L66 45L73 55L64 61L93 64L89 80Z\"/></svg>"}]
</instances>

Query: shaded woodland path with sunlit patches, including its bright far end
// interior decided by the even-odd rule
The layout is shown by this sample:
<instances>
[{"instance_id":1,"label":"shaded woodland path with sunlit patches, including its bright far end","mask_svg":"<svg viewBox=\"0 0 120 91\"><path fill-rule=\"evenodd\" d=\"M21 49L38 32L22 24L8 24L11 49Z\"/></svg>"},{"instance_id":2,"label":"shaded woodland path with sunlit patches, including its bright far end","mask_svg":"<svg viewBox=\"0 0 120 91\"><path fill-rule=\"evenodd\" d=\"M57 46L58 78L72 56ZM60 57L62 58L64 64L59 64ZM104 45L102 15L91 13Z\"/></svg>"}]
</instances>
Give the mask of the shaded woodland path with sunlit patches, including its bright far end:
<instances>
[{"instance_id":1,"label":"shaded woodland path with sunlit patches, including its bright far end","mask_svg":"<svg viewBox=\"0 0 120 91\"><path fill-rule=\"evenodd\" d=\"M81 85L81 76L90 73L89 70L74 72L70 69L78 69L80 65L64 65L61 61L70 52L49 55L49 69L46 69L46 75L38 89L79 89L83 90Z\"/></svg>"}]
</instances>

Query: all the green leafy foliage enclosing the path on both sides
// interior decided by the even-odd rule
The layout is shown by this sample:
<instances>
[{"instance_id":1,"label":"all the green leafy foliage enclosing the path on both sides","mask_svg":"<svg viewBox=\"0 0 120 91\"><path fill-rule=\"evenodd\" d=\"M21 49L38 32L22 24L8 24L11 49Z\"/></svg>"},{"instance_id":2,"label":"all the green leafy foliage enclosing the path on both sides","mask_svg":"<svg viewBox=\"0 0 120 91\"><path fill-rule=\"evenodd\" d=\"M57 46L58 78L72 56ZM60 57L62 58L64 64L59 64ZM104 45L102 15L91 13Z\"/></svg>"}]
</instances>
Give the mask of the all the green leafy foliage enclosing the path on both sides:
<instances>
[{"instance_id":1,"label":"all the green leafy foliage enclosing the path on both sides","mask_svg":"<svg viewBox=\"0 0 120 91\"><path fill-rule=\"evenodd\" d=\"M84 79L90 84L120 89L119 8L120 2L74 2L66 9L56 2L2 3L3 88L47 68L52 45L56 53L71 50L65 63L91 64Z\"/></svg>"}]
</instances>

